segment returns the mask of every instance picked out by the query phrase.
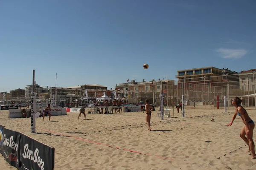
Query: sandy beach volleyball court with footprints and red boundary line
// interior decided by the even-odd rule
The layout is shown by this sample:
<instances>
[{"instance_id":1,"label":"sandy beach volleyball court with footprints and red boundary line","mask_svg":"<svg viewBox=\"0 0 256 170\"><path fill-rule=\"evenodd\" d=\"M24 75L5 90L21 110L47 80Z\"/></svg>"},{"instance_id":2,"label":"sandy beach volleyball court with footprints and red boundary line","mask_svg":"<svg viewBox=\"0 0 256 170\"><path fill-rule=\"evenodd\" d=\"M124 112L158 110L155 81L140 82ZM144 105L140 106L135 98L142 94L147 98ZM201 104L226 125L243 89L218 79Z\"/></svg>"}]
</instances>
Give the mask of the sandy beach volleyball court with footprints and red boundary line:
<instances>
[{"instance_id":1,"label":"sandy beach volleyball court with footprints and red boundary line","mask_svg":"<svg viewBox=\"0 0 256 170\"><path fill-rule=\"evenodd\" d=\"M164 121L154 111L152 131L140 112L86 114L87 120L83 115L78 120L79 113L52 116L51 122L38 118L35 134L30 118L9 119L8 111L0 111L0 124L55 147L55 170L255 170L256 159L239 137L241 118L226 127L233 111L191 108L181 118L175 109L175 118L171 111ZM256 111L247 112L256 122ZM3 156L0 164L1 170L15 170Z\"/></svg>"}]
</instances>

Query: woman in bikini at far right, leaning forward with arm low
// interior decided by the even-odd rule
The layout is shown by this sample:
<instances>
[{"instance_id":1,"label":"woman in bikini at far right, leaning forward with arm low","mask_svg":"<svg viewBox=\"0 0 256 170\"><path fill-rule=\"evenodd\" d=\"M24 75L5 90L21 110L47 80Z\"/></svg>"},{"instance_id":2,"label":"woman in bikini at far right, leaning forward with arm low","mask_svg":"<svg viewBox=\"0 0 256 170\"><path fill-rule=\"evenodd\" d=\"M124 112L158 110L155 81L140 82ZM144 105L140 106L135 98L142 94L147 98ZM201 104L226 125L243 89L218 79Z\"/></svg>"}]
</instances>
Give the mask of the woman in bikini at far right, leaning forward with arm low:
<instances>
[{"instance_id":1,"label":"woman in bikini at far right, leaning forward with arm low","mask_svg":"<svg viewBox=\"0 0 256 170\"><path fill-rule=\"evenodd\" d=\"M256 154L254 150L254 142L253 142L253 129L254 122L250 119L247 111L241 106L242 100L239 97L232 99L232 104L235 106L235 114L231 120L231 122L227 126L231 126L233 121L236 119L236 115L240 116L242 121L244 122L244 126L241 130L240 137L244 140L244 142L249 146L249 150L247 152L252 153L252 159L256 159ZM246 137L245 137L246 135Z\"/></svg>"}]
</instances>

